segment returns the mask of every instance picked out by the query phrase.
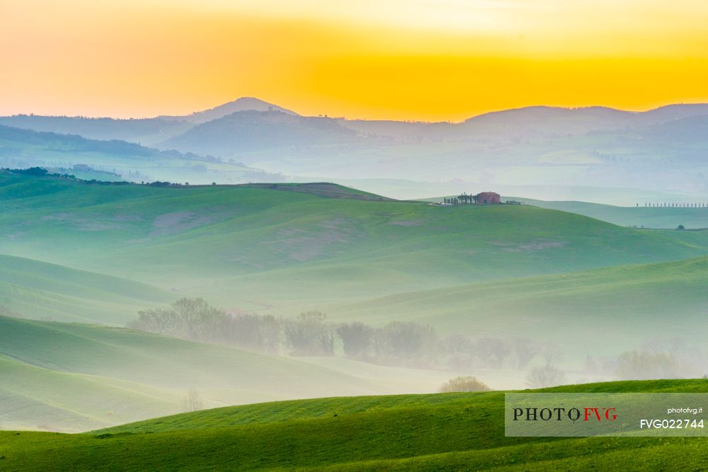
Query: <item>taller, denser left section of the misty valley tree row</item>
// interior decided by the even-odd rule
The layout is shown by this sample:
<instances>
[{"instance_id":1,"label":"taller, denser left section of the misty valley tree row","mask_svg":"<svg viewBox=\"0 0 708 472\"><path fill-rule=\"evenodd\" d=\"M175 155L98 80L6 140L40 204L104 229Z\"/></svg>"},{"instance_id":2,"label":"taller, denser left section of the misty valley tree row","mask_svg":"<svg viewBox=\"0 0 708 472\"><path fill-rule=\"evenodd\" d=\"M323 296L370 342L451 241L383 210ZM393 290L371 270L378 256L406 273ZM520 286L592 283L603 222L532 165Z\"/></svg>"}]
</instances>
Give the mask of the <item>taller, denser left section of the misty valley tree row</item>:
<instances>
[{"instance_id":1,"label":"taller, denser left section of the misty valley tree row","mask_svg":"<svg viewBox=\"0 0 708 472\"><path fill-rule=\"evenodd\" d=\"M275 355L333 356L338 346L353 359L432 362L437 336L418 323L394 322L383 328L364 323L335 324L324 313L297 318L229 314L203 299L179 299L169 309L140 311L131 328L211 343L224 343Z\"/></svg>"}]
</instances>

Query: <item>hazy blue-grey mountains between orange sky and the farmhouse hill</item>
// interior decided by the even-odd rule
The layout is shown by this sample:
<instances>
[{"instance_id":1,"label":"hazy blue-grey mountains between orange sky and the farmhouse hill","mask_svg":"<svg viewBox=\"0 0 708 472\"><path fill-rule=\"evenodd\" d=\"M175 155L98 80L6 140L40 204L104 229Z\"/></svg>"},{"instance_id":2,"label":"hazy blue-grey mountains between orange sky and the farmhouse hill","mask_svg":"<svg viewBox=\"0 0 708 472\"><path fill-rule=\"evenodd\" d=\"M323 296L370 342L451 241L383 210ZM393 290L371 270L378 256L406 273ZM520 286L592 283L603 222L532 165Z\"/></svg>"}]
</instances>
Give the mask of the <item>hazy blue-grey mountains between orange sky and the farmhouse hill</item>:
<instances>
[{"instance_id":1,"label":"hazy blue-grey mountains between orange sky and the farmhouse hill","mask_svg":"<svg viewBox=\"0 0 708 472\"><path fill-rule=\"evenodd\" d=\"M534 106L457 123L367 121L302 116L257 98L239 98L182 117L112 120L21 115L0 117L0 125L210 155L301 181L459 179L484 188L632 188L653 194L692 194L703 200L708 198L707 117L708 104L697 103L646 112ZM69 159L72 156L61 160L63 167ZM16 160L11 165L22 163ZM217 168L213 177L207 176L200 165L176 170L173 163L166 163L149 170L159 179L193 183L263 181L244 178L243 173L222 174ZM377 189L387 195L385 188Z\"/></svg>"}]
</instances>

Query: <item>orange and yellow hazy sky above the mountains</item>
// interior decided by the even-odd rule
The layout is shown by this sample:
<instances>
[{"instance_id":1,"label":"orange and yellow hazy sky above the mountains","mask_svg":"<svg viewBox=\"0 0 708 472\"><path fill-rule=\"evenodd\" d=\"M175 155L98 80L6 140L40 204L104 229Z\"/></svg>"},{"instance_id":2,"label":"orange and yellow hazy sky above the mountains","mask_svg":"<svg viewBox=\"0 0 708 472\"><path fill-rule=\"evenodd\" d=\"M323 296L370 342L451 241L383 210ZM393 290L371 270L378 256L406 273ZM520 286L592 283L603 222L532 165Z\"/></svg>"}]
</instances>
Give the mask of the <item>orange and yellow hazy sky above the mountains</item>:
<instances>
[{"instance_id":1,"label":"orange and yellow hazy sky above the mountains","mask_svg":"<svg viewBox=\"0 0 708 472\"><path fill-rule=\"evenodd\" d=\"M0 0L0 114L708 102L704 0Z\"/></svg>"}]
</instances>

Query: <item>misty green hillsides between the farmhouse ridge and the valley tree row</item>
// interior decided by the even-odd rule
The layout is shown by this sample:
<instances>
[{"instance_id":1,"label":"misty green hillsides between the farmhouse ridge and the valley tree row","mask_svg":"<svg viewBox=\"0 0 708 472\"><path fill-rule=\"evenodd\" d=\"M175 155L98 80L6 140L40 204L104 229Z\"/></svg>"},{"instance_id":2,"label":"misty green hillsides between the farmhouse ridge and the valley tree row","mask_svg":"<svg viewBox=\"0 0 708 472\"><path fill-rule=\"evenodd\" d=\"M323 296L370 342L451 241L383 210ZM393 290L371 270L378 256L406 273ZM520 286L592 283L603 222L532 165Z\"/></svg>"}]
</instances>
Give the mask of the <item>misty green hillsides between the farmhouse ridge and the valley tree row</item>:
<instances>
[{"instance_id":1,"label":"misty green hillsides between the farmhouse ridge and the valley tree row","mask_svg":"<svg viewBox=\"0 0 708 472\"><path fill-rule=\"evenodd\" d=\"M154 188L0 172L0 195L3 251L64 265L1 259L0 304L30 318L122 326L188 294L222 309L418 321L442 335L573 339L572 359L593 350L578 332L610 322L605 355L666 332L706 334L708 231L379 201L323 183Z\"/></svg>"}]
</instances>

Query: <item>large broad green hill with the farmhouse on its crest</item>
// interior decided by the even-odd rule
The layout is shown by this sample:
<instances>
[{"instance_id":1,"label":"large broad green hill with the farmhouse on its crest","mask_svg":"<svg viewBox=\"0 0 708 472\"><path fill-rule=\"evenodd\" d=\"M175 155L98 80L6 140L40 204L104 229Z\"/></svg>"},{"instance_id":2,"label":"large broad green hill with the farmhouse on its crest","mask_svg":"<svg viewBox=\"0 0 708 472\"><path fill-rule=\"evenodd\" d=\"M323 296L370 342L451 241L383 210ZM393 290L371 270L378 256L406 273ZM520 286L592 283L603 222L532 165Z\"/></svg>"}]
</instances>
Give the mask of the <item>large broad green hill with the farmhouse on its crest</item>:
<instances>
[{"instance_id":1,"label":"large broad green hill with the farmhouse on its crest","mask_svg":"<svg viewBox=\"0 0 708 472\"><path fill-rule=\"evenodd\" d=\"M86 185L0 172L0 237L6 253L281 311L708 254L702 232L641 231L534 207L279 190Z\"/></svg>"}]
</instances>

